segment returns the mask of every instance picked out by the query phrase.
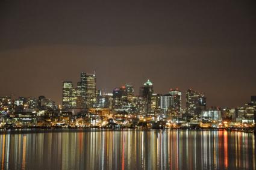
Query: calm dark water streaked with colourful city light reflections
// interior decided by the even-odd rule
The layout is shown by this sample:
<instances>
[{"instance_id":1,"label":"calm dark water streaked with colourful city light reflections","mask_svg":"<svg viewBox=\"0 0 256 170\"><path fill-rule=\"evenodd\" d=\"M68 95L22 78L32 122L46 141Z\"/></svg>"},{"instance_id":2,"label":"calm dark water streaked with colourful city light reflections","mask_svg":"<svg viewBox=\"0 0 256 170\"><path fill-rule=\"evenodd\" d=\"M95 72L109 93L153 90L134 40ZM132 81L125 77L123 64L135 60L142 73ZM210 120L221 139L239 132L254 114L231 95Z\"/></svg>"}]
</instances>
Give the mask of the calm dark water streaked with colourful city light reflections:
<instances>
[{"instance_id":1,"label":"calm dark water streaked with colourful city light reflections","mask_svg":"<svg viewBox=\"0 0 256 170\"><path fill-rule=\"evenodd\" d=\"M242 132L63 130L0 144L1 169L256 169L255 136Z\"/></svg>"}]
</instances>

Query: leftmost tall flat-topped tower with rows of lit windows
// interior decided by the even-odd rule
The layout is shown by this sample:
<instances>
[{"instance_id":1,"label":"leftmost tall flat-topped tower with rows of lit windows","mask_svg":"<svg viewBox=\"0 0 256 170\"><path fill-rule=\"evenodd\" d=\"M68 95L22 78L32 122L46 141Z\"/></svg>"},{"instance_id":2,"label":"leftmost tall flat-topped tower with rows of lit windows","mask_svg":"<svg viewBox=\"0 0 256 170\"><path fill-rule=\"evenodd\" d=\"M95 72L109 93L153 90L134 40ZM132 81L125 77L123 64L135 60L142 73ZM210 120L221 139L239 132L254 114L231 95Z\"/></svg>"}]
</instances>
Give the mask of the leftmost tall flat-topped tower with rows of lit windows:
<instances>
[{"instance_id":1,"label":"leftmost tall flat-topped tower with rows of lit windows","mask_svg":"<svg viewBox=\"0 0 256 170\"><path fill-rule=\"evenodd\" d=\"M73 83L70 81L64 81L62 86L62 106L64 109L72 108L72 90Z\"/></svg>"}]
</instances>

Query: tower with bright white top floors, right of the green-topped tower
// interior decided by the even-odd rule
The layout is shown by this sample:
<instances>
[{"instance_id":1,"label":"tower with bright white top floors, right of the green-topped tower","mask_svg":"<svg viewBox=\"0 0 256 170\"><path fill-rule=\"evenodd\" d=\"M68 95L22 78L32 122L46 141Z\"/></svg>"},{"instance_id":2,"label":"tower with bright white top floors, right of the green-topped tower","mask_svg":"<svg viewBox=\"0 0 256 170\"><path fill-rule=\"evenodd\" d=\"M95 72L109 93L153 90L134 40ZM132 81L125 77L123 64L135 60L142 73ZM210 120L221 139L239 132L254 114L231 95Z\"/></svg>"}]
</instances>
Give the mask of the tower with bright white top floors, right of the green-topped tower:
<instances>
[{"instance_id":1,"label":"tower with bright white top floors, right of the green-topped tower","mask_svg":"<svg viewBox=\"0 0 256 170\"><path fill-rule=\"evenodd\" d=\"M181 113L181 91L176 88L175 90L171 89L170 94L170 109L176 114Z\"/></svg>"}]
</instances>

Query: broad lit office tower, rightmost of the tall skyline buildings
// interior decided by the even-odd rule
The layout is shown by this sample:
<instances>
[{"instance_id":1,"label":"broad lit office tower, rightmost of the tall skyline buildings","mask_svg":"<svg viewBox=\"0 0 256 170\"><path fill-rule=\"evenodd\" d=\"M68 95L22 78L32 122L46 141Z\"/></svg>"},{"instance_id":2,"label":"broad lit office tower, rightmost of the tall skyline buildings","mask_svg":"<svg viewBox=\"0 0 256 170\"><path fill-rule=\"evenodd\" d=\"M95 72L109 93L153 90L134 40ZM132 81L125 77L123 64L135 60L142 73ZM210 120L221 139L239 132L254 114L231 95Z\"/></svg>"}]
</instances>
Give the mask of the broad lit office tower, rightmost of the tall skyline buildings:
<instances>
[{"instance_id":1,"label":"broad lit office tower, rightmost of the tall skyline buildings","mask_svg":"<svg viewBox=\"0 0 256 170\"><path fill-rule=\"evenodd\" d=\"M201 112L206 109L206 97L204 97L204 94L193 91L192 89L187 90L186 108L187 114L201 115Z\"/></svg>"}]
</instances>

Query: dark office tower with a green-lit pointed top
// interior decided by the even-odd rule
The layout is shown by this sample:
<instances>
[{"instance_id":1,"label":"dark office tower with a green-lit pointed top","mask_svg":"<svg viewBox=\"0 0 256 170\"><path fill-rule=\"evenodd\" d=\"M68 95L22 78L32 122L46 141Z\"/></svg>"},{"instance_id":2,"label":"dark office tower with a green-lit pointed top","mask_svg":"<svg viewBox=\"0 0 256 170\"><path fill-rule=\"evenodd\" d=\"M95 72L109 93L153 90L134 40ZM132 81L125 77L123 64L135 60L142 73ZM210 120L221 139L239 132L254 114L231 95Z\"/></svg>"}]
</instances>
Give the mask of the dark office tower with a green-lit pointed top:
<instances>
[{"instance_id":1,"label":"dark office tower with a green-lit pointed top","mask_svg":"<svg viewBox=\"0 0 256 170\"><path fill-rule=\"evenodd\" d=\"M140 97L143 97L145 100L145 114L149 114L151 112L153 91L153 83L150 80L147 80L143 84L143 87L140 87Z\"/></svg>"}]
</instances>

